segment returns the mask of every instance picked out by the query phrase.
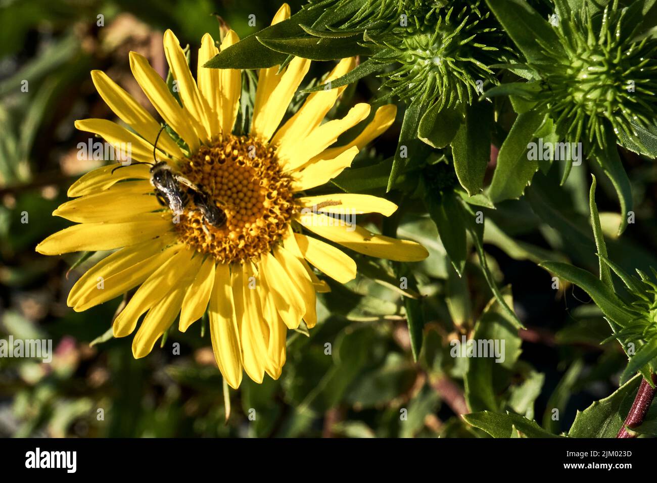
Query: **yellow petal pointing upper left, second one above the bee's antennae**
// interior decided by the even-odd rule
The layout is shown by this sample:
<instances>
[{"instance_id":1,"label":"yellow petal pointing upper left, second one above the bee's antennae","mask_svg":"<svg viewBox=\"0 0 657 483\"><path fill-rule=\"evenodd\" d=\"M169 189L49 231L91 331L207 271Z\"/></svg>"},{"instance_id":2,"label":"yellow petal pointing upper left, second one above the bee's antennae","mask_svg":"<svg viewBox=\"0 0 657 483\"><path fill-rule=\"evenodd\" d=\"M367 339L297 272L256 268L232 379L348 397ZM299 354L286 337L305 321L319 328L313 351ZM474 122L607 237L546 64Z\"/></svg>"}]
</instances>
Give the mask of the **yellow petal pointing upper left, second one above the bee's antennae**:
<instances>
[{"instance_id":1,"label":"yellow petal pointing upper left, second one above the bee's antennae","mask_svg":"<svg viewBox=\"0 0 657 483\"><path fill-rule=\"evenodd\" d=\"M109 106L114 114L125 122L128 126L132 127L153 145L155 140L158 140L158 147L164 149L171 154L174 158L183 158L184 154L178 145L171 139L167 133L162 133L158 139L160 132L160 123L153 119L148 114L148 111L143 108L135 99L124 91L116 82L108 78L102 70L92 70L91 80L96 90L101 95L103 101Z\"/></svg>"}]
</instances>

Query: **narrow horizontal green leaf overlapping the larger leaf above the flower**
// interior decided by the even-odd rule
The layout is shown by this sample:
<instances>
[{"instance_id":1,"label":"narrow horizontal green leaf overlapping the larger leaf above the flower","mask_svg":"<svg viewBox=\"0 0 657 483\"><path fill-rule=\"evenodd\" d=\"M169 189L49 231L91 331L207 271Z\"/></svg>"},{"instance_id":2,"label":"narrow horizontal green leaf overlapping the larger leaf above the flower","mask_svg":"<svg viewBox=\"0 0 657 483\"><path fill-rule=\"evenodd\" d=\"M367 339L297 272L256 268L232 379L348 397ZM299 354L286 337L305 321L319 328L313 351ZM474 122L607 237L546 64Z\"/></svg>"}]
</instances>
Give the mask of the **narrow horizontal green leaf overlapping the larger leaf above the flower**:
<instances>
[{"instance_id":1,"label":"narrow horizontal green leaf overlapping the larger leaf above the flower","mask_svg":"<svg viewBox=\"0 0 657 483\"><path fill-rule=\"evenodd\" d=\"M271 39L261 37L258 41L272 51L309 58L311 60L336 60L355 55L371 55L368 47L361 47L353 39L321 39L318 37L287 37Z\"/></svg>"}]
</instances>

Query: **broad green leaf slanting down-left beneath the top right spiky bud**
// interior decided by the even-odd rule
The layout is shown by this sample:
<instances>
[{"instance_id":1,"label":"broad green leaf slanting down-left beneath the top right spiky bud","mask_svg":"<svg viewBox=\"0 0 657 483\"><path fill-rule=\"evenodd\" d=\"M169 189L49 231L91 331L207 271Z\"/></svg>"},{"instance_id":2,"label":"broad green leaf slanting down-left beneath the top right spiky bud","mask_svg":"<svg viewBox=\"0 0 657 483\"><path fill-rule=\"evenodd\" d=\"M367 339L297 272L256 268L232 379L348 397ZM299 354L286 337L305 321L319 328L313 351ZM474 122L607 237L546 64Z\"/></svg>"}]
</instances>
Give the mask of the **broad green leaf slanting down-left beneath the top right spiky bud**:
<instances>
[{"instance_id":1,"label":"broad green leaf slanting down-left beneath the top right spiky bud","mask_svg":"<svg viewBox=\"0 0 657 483\"><path fill-rule=\"evenodd\" d=\"M497 168L488 193L493 203L520 198L531 183L538 163L528 159L527 145L544 118L543 113L535 111L518 114L497 155Z\"/></svg>"}]
</instances>

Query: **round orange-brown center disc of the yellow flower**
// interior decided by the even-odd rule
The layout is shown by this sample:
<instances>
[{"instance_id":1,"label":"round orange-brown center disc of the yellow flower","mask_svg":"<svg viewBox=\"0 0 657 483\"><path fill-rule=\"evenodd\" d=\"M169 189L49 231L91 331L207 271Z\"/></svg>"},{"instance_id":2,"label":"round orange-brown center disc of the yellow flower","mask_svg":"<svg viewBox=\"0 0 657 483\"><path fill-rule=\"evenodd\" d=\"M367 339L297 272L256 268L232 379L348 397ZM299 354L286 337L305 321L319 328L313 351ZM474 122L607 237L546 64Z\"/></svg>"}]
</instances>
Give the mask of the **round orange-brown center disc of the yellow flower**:
<instances>
[{"instance_id":1,"label":"round orange-brown center disc of the yellow flower","mask_svg":"<svg viewBox=\"0 0 657 483\"><path fill-rule=\"evenodd\" d=\"M212 225L189 200L175 227L179 239L198 252L221 263L258 260L288 229L294 212L291 180L274 149L258 139L226 135L214 146L200 147L180 171L226 216Z\"/></svg>"}]
</instances>

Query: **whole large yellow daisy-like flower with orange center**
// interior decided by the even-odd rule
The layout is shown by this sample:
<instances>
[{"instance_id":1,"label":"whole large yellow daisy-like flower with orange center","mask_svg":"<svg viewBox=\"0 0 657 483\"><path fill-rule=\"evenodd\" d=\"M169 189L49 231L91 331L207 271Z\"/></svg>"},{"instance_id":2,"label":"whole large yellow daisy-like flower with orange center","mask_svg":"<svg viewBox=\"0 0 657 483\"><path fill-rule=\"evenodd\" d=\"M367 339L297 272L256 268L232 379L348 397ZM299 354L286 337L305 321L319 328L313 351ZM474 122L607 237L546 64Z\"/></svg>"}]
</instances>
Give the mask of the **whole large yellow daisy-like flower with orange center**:
<instances>
[{"instance_id":1,"label":"whole large yellow daisy-like flower with orange center","mask_svg":"<svg viewBox=\"0 0 657 483\"><path fill-rule=\"evenodd\" d=\"M289 14L283 5L274 22ZM221 49L237 41L231 31ZM237 137L232 131L240 70L202 68L218 53L209 34L198 51L197 81L170 30L164 34L164 50L182 106L144 57L131 52L130 66L150 103L189 152L166 131L160 133L160 124L100 71L91 76L102 99L133 130L101 119L81 120L76 127L115 146L131 143L133 160L151 164L160 133L158 160L200 185L225 213L225 223L207 223L193 200L172 220L154 196L147 164L104 166L76 181L68 190L76 199L53 213L79 224L51 235L37 251L54 255L116 250L79 279L68 305L87 310L139 286L113 325L114 336L127 336L146 314L133 339L135 357L147 356L178 315L184 332L208 310L212 347L227 383L237 388L242 369L257 382L265 373L277 379L285 363L287 330L302 320L313 327L315 294L328 290L310 265L340 283L356 273L350 256L306 233L390 260L415 261L428 255L415 242L333 223L331 214L340 210L390 216L397 206L384 198L302 195L350 166L359 149L392 124L396 108L379 108L351 143L335 147L338 136L370 112L369 104L357 104L344 118L322 124L344 89L338 87L309 95L277 129L309 68L309 60L294 58L281 74L277 67L260 71L250 135ZM330 79L354 66L353 58L342 60Z\"/></svg>"}]
</instances>

